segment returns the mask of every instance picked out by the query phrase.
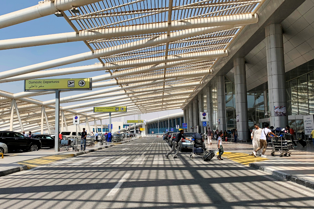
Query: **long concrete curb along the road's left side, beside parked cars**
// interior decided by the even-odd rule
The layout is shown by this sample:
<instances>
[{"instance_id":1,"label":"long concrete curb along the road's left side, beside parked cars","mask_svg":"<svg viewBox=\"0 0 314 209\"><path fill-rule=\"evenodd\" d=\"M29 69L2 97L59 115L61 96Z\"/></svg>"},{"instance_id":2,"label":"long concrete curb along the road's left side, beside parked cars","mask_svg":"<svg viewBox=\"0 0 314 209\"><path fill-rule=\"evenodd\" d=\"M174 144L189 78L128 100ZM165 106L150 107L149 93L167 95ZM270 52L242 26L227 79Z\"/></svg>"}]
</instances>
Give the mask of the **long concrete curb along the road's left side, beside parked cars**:
<instances>
[{"instance_id":1,"label":"long concrete curb along the road's left side, beside parked cars","mask_svg":"<svg viewBox=\"0 0 314 209\"><path fill-rule=\"evenodd\" d=\"M127 142L132 142L134 140L137 140L137 139L131 139L131 140L128 140L128 141L122 141L120 143L123 144L123 143L127 143ZM81 151L81 152L77 152L77 153L73 153L73 154L56 154L56 155L75 157L75 156L78 156L78 155L83 155L83 154L86 154L86 153L95 152L97 150L101 150L101 149L105 149L105 148L113 147L113 146L114 146L113 144L108 144L108 145L103 146L103 147L97 147L97 148L94 148L94 149L85 150L85 151ZM36 159L36 158L34 158L34 159ZM23 162L23 161L21 161L21 162ZM17 166L17 167L11 168L11 169L2 170L2 171L0 171L0 177L1 176L6 176L6 175L9 175L9 174L13 174L13 173L16 173L16 172L19 172L19 171L27 170L27 169L31 169L31 168L28 168L26 165L23 165L23 166Z\"/></svg>"}]
</instances>

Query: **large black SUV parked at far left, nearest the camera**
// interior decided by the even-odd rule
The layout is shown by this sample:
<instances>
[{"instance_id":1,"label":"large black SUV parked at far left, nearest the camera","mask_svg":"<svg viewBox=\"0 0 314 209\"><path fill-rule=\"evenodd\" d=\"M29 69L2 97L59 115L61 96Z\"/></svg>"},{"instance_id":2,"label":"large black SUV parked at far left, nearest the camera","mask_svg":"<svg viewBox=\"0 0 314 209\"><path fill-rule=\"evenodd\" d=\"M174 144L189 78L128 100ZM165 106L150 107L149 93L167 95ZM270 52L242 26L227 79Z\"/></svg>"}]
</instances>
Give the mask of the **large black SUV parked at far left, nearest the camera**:
<instances>
[{"instance_id":1,"label":"large black SUV parked at far left, nearest the camera","mask_svg":"<svg viewBox=\"0 0 314 209\"><path fill-rule=\"evenodd\" d=\"M14 131L0 131L0 142L5 143L10 151L37 151L41 148L40 139L28 138Z\"/></svg>"}]
</instances>

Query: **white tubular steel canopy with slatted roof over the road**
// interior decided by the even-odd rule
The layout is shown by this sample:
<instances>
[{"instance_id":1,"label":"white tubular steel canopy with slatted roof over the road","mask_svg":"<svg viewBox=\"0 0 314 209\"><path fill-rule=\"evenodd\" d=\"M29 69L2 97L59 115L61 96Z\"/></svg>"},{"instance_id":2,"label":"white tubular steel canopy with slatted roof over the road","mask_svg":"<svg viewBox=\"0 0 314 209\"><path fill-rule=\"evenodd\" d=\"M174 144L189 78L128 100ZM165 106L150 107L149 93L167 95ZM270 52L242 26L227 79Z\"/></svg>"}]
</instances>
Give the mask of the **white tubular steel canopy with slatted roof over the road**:
<instances>
[{"instance_id":1,"label":"white tubular steel canopy with slatted roof over the road","mask_svg":"<svg viewBox=\"0 0 314 209\"><path fill-rule=\"evenodd\" d=\"M127 106L112 117L178 109L210 77L219 57L239 31L257 23L263 0L45 0L30 8L0 16L0 28L56 13L74 32L0 40L0 50L84 41L89 52L4 71L0 83L103 72L92 78L92 92L60 98L83 101L60 108L62 122L79 114L88 121L108 118L93 106ZM79 13L77 13L79 11ZM74 13L76 12L76 13ZM63 15L63 17L62 17ZM87 66L62 66L98 59ZM61 67L60 69L50 69ZM104 88L110 87L110 88ZM54 100L30 98L53 92L0 91L1 130L50 131ZM84 101L100 99L97 101ZM81 109L84 108L84 109ZM45 120L44 120L45 118ZM82 117L83 118L83 117Z\"/></svg>"}]
</instances>

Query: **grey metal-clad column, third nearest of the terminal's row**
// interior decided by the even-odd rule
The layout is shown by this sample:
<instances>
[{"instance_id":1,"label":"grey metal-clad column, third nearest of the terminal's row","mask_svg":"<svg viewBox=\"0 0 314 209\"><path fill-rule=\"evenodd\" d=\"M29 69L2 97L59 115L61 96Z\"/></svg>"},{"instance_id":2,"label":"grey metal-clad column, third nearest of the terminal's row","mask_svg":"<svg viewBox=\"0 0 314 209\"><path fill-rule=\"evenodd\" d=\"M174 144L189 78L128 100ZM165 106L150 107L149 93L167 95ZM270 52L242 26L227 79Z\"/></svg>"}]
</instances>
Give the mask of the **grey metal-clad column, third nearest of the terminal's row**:
<instances>
[{"instance_id":1,"label":"grey metal-clad column, third nearest of the terminal's row","mask_svg":"<svg viewBox=\"0 0 314 209\"><path fill-rule=\"evenodd\" d=\"M217 100L218 100L218 130L227 130L226 126L226 99L225 99L225 76L217 77Z\"/></svg>"}]
</instances>

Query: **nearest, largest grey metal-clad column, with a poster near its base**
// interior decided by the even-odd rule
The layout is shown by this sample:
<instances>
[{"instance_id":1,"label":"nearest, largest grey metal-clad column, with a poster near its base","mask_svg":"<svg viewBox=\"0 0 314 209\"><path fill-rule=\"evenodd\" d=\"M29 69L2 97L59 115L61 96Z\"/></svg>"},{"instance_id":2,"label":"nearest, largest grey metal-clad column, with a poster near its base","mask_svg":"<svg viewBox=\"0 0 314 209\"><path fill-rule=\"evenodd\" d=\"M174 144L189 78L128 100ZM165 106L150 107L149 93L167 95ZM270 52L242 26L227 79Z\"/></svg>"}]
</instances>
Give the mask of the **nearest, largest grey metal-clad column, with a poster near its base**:
<instances>
[{"instance_id":1,"label":"nearest, largest grey metal-clad column, with a poster near its base","mask_svg":"<svg viewBox=\"0 0 314 209\"><path fill-rule=\"evenodd\" d=\"M270 125L286 127L288 116L275 116L274 107L287 107L285 70L284 70L284 42L280 24L270 24L265 27L266 57L268 75L268 94Z\"/></svg>"}]
</instances>

